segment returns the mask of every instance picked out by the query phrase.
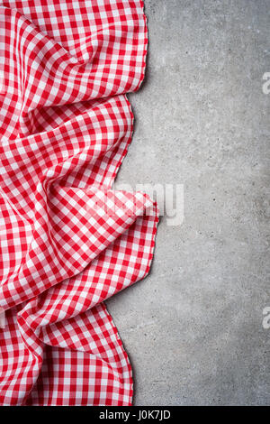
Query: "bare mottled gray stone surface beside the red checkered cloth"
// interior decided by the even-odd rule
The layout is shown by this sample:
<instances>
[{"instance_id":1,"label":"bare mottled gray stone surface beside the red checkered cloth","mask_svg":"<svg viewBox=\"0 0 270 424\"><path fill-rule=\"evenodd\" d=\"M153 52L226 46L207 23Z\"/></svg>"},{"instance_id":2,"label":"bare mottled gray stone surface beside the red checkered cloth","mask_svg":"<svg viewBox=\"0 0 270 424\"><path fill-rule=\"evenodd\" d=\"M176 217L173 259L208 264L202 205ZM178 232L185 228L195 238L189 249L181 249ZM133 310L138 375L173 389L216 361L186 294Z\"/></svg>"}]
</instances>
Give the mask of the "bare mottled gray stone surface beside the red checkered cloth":
<instances>
[{"instance_id":1,"label":"bare mottled gray stone surface beside the red checkered cloth","mask_svg":"<svg viewBox=\"0 0 270 424\"><path fill-rule=\"evenodd\" d=\"M137 405L270 404L269 0L146 0L147 77L119 182L184 184L151 272L107 305Z\"/></svg>"}]
</instances>

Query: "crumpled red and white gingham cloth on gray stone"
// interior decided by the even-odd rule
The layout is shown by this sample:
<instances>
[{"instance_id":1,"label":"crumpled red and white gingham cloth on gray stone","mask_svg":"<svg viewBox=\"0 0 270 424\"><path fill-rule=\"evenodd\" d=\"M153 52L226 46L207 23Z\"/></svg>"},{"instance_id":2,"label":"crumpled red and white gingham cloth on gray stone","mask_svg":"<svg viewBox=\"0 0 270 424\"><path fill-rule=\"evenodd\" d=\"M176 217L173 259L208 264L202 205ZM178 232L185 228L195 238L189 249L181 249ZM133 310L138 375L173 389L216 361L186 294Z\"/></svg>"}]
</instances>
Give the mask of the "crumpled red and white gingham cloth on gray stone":
<instances>
[{"instance_id":1,"label":"crumpled red and white gingham cloth on gray stone","mask_svg":"<svg viewBox=\"0 0 270 424\"><path fill-rule=\"evenodd\" d=\"M130 405L103 300L142 279L157 206L112 187L143 79L139 0L0 0L0 404Z\"/></svg>"}]
</instances>

